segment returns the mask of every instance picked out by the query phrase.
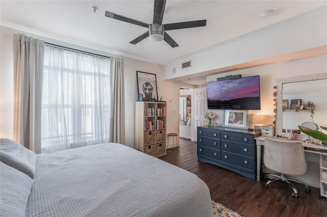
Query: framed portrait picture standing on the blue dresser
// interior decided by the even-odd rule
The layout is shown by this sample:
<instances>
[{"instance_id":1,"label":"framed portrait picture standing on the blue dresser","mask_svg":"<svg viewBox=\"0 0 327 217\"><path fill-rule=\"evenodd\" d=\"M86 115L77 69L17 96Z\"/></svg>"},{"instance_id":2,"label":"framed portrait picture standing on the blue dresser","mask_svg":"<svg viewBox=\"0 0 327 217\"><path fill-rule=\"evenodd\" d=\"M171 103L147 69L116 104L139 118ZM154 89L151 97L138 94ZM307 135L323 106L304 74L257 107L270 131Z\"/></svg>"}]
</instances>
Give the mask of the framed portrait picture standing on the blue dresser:
<instances>
[{"instance_id":1,"label":"framed portrait picture standing on the blue dresser","mask_svg":"<svg viewBox=\"0 0 327 217\"><path fill-rule=\"evenodd\" d=\"M224 127L248 129L249 113L247 110L225 110Z\"/></svg>"}]
</instances>

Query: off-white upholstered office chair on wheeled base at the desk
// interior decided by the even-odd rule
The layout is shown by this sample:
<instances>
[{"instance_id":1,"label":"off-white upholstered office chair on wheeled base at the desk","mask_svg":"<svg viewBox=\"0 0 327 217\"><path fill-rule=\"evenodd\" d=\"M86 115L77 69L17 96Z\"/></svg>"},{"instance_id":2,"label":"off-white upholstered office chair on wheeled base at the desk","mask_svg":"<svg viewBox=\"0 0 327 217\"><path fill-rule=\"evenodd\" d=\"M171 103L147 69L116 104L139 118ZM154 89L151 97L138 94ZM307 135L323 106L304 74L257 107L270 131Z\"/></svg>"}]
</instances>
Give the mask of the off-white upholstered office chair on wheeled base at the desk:
<instances>
[{"instance_id":1,"label":"off-white upholstered office chair on wheeled base at the desk","mask_svg":"<svg viewBox=\"0 0 327 217\"><path fill-rule=\"evenodd\" d=\"M266 138L264 165L269 170L281 174L265 174L266 179L268 176L276 177L268 180L266 182L266 187L270 187L270 183L276 180L285 181L293 188L292 196L297 198L297 190L290 182L294 181L305 185L306 192L311 191L307 184L287 178L287 175L303 175L307 171L307 160L301 141Z\"/></svg>"}]
</instances>

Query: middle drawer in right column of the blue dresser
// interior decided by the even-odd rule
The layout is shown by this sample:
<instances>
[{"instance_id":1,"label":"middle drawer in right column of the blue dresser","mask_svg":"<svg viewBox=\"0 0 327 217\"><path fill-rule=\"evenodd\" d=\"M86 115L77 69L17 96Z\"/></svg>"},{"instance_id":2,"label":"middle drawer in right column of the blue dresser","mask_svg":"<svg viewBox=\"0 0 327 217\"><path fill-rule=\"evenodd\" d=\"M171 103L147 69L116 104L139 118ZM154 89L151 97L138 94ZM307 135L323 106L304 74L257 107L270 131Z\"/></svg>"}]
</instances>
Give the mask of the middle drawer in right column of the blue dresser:
<instances>
[{"instance_id":1,"label":"middle drawer in right column of the blue dresser","mask_svg":"<svg viewBox=\"0 0 327 217\"><path fill-rule=\"evenodd\" d=\"M253 145L221 140L221 150L253 157Z\"/></svg>"}]
</instances>

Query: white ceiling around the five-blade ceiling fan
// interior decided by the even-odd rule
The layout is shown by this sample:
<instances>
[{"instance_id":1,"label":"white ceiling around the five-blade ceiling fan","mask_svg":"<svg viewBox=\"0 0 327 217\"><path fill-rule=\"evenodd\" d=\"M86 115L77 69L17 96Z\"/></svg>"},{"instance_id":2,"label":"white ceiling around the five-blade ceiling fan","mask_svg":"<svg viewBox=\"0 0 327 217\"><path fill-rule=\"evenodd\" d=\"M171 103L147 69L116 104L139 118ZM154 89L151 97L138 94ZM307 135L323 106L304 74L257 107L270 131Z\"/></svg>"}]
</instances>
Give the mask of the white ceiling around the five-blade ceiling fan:
<instances>
[{"instance_id":1,"label":"white ceiling around the five-blade ceiling fan","mask_svg":"<svg viewBox=\"0 0 327 217\"><path fill-rule=\"evenodd\" d=\"M105 17L105 11L152 23L154 1L0 1L1 25L164 65L190 53L325 6L326 1L167 1L163 24L206 19L205 27L167 31L179 44L149 38L147 28ZM91 7L99 10L93 13ZM261 13L273 9L274 16Z\"/></svg>"}]
</instances>

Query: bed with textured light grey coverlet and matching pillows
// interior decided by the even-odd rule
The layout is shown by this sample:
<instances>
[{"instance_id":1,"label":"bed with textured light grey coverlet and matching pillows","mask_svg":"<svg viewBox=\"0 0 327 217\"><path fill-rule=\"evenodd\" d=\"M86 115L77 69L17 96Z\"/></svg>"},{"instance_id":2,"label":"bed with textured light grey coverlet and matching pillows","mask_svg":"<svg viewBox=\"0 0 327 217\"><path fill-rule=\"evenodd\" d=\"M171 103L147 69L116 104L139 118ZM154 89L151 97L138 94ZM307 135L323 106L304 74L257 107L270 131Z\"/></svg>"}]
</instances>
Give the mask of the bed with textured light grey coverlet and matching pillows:
<instances>
[{"instance_id":1,"label":"bed with textured light grey coverlet and matching pillows","mask_svg":"<svg viewBox=\"0 0 327 217\"><path fill-rule=\"evenodd\" d=\"M213 216L196 175L116 143L34 154L0 140L2 216Z\"/></svg>"}]
</instances>

